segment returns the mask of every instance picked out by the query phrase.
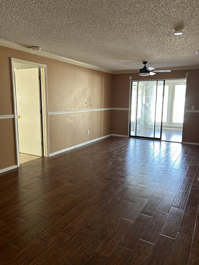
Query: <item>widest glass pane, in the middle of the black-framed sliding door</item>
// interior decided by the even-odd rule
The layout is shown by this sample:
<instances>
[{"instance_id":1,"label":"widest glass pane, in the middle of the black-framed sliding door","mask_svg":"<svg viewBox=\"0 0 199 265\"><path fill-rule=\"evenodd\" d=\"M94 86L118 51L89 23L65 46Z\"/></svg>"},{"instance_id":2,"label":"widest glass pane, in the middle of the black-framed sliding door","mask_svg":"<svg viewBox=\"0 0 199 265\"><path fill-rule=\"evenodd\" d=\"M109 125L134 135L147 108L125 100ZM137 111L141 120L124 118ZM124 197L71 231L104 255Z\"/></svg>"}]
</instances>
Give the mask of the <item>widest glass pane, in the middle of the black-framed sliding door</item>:
<instances>
[{"instance_id":1,"label":"widest glass pane, in the middle of the black-framed sliding door","mask_svg":"<svg viewBox=\"0 0 199 265\"><path fill-rule=\"evenodd\" d=\"M137 136L154 137L156 81L139 81L137 101Z\"/></svg>"}]
</instances>

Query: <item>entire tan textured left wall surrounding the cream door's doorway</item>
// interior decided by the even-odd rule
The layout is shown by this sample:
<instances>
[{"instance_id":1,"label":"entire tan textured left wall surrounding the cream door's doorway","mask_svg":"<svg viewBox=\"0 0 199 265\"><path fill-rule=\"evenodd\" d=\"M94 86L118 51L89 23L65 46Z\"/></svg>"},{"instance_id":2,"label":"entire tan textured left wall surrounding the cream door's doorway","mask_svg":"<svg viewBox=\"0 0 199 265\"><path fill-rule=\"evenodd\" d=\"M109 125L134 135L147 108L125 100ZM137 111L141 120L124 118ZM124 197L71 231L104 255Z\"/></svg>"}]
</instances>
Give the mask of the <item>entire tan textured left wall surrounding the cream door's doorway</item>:
<instances>
[{"instance_id":1,"label":"entire tan textured left wall surrounding the cream door's doorway","mask_svg":"<svg viewBox=\"0 0 199 265\"><path fill-rule=\"evenodd\" d=\"M14 114L11 57L47 65L49 111L111 108L113 75L0 46L0 115ZM14 120L0 122L0 168L5 168L16 165L14 131L10 128ZM49 115L49 134L50 153L111 134L111 111ZM11 144L2 144L9 140Z\"/></svg>"}]
</instances>

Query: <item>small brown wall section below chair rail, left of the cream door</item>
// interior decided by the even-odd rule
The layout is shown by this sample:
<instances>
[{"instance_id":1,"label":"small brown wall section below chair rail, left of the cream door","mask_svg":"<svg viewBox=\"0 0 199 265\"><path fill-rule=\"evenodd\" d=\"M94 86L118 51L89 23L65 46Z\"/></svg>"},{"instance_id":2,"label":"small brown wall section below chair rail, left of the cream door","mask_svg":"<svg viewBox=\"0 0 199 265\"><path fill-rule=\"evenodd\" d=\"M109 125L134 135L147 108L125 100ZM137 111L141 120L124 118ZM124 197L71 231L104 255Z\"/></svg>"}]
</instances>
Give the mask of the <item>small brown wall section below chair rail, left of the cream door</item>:
<instances>
[{"instance_id":1,"label":"small brown wall section below chair rail, left of the cream door","mask_svg":"<svg viewBox=\"0 0 199 265\"><path fill-rule=\"evenodd\" d=\"M17 164L14 119L0 119L0 169Z\"/></svg>"}]
</instances>

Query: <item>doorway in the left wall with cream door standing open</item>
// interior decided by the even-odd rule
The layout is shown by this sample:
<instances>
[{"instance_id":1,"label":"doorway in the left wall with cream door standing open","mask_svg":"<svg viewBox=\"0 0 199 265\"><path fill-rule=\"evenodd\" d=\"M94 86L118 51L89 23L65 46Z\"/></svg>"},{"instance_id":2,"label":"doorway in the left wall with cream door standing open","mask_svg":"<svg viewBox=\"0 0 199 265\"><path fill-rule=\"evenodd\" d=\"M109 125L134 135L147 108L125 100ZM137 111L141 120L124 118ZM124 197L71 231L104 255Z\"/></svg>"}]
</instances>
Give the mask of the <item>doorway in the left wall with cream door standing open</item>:
<instances>
[{"instance_id":1,"label":"doorway in the left wall with cream door standing open","mask_svg":"<svg viewBox=\"0 0 199 265\"><path fill-rule=\"evenodd\" d=\"M49 156L46 65L11 58L17 166Z\"/></svg>"}]
</instances>

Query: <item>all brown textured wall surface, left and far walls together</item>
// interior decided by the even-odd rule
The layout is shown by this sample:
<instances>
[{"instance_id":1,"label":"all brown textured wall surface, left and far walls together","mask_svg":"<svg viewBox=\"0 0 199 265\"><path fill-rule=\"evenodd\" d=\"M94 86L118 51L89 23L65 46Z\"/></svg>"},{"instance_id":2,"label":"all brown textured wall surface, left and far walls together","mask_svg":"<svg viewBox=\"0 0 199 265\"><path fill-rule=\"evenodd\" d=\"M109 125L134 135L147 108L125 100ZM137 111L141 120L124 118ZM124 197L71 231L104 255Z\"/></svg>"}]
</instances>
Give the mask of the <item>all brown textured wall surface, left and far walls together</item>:
<instances>
[{"instance_id":1,"label":"all brown textured wall surface, left and far walls together","mask_svg":"<svg viewBox=\"0 0 199 265\"><path fill-rule=\"evenodd\" d=\"M13 114L11 57L47 64L49 111L110 107L128 108L129 76L132 76L132 80L146 80L145 77L141 77L137 73L111 75L0 46L0 60L2 62L0 71L0 115ZM185 78L186 72L189 75L185 108L191 109L191 106L195 105L195 110L199 110L198 69L159 73L156 76L158 79ZM154 77L150 76L148 79L154 79ZM113 90L111 92L112 85ZM111 133L128 135L128 111L126 110L84 112L79 114L49 116L51 153ZM13 122L13 119L0 120L0 168L16 164ZM184 142L199 142L197 138L198 122L198 113L186 114L183 127ZM90 130L89 135L87 130ZM77 138L74 137L74 134L77 135Z\"/></svg>"}]
</instances>

